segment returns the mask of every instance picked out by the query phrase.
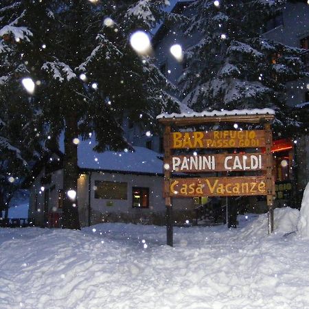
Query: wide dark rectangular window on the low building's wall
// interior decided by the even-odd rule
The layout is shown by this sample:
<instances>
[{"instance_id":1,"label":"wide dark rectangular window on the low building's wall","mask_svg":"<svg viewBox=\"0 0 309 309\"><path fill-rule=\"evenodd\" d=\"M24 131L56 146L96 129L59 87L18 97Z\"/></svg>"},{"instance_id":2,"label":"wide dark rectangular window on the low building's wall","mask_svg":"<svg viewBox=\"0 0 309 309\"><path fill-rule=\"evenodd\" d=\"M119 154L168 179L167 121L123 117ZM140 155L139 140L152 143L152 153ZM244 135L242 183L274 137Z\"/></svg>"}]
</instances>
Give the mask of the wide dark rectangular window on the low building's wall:
<instances>
[{"instance_id":1,"label":"wide dark rectangular window on the low building's wall","mask_svg":"<svg viewBox=\"0 0 309 309\"><path fill-rule=\"evenodd\" d=\"M127 183L114 183L113 181L95 181L95 198L106 200L126 200Z\"/></svg>"}]
</instances>

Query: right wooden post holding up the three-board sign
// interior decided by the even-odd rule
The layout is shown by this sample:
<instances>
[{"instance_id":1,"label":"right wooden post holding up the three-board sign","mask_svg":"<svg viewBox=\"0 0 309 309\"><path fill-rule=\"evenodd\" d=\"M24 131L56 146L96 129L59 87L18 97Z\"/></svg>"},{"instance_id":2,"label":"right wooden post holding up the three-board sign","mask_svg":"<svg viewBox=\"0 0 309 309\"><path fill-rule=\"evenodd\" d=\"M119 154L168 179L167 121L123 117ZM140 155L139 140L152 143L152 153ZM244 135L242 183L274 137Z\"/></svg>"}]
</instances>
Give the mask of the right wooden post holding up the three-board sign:
<instances>
[{"instance_id":1,"label":"right wooden post holding up the three-board sign","mask_svg":"<svg viewBox=\"0 0 309 309\"><path fill-rule=\"evenodd\" d=\"M271 146L273 145L273 135L271 132L271 124L266 122L265 128L265 144L266 144L266 190L267 190L267 206L268 206L268 234L273 233L273 195L275 194L275 185L273 182L273 154Z\"/></svg>"}]
</instances>

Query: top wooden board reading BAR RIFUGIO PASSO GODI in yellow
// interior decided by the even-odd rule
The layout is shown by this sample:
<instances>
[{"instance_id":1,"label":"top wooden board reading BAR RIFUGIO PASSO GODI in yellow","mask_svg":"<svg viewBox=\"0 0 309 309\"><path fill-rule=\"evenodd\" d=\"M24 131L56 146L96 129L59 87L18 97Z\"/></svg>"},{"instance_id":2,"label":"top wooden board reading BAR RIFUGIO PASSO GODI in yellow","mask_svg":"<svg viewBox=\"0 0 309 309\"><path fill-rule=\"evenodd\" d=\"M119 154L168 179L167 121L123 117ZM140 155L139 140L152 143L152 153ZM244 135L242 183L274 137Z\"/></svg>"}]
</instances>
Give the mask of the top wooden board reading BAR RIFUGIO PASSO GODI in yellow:
<instances>
[{"instance_id":1,"label":"top wooden board reading BAR RIFUGIO PASSO GODI in yellow","mask_svg":"<svg viewBox=\"0 0 309 309\"><path fill-rule=\"evenodd\" d=\"M181 148L259 148L265 146L264 130L222 130L170 133L170 146Z\"/></svg>"}]
</instances>

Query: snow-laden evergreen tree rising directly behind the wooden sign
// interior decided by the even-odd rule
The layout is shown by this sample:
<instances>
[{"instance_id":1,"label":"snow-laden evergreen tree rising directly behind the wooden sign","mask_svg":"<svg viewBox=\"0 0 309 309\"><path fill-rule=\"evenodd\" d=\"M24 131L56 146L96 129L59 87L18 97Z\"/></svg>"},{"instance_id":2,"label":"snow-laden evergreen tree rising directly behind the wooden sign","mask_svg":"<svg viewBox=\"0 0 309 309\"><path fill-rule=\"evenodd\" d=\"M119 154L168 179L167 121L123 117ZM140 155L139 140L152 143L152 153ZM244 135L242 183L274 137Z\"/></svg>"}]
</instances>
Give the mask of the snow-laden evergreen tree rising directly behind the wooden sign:
<instances>
[{"instance_id":1,"label":"snow-laden evergreen tree rising directly behind the wooden sign","mask_svg":"<svg viewBox=\"0 0 309 309\"><path fill-rule=\"evenodd\" d=\"M196 0L188 33L200 34L186 51L181 93L197 111L274 108L286 117L286 83L304 76L301 49L268 40L262 30L283 0Z\"/></svg>"}]
</instances>

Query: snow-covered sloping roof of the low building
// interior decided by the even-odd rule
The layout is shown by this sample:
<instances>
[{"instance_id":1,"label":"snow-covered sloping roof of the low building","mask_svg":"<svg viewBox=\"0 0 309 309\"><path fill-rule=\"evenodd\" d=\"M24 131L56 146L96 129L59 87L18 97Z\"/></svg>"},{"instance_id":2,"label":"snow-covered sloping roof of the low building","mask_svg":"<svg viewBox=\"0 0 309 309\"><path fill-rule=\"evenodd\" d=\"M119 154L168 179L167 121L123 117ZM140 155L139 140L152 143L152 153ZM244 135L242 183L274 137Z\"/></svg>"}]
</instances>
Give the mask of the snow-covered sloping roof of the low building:
<instances>
[{"instance_id":1,"label":"snow-covered sloping roof of the low building","mask_svg":"<svg viewBox=\"0 0 309 309\"><path fill-rule=\"evenodd\" d=\"M81 169L126 172L133 174L163 174L163 161L159 153L144 147L134 147L135 151L95 152L93 140L78 144L78 166Z\"/></svg>"}]
</instances>

